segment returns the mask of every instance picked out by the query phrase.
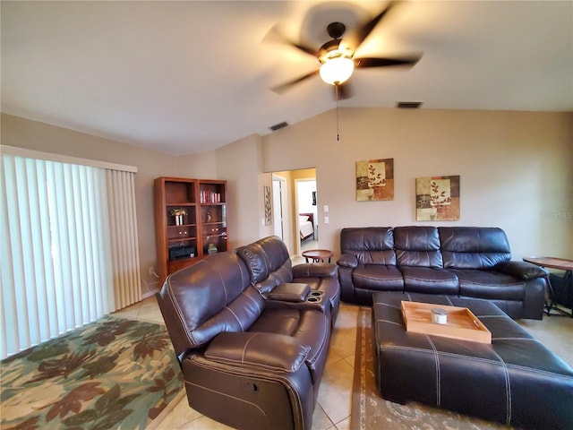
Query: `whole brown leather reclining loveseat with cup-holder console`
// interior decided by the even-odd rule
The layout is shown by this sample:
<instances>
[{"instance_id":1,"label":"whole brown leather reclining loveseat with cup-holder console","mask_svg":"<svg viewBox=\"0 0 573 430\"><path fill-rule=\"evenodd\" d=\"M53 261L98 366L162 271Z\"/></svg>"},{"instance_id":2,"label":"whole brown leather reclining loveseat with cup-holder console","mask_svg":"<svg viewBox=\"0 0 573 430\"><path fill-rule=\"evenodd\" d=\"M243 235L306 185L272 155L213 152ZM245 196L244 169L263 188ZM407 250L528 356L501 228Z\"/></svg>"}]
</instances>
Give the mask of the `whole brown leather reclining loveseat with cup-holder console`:
<instances>
[{"instance_id":1,"label":"whole brown leather reclining loveseat with cup-holder console","mask_svg":"<svg viewBox=\"0 0 573 430\"><path fill-rule=\"evenodd\" d=\"M156 295L189 405L235 428L311 428L338 314L337 266L292 268L277 240L212 254Z\"/></svg>"}]
</instances>

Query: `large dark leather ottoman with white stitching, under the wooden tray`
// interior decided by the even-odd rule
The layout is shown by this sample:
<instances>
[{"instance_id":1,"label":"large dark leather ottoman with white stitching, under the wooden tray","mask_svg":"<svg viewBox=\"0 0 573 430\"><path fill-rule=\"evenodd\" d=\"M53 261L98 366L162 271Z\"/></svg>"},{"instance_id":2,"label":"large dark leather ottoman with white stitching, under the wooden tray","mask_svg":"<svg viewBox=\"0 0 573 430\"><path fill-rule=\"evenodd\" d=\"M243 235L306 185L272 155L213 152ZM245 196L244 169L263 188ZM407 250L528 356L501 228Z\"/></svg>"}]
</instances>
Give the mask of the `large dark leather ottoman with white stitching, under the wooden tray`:
<instances>
[{"instance_id":1,"label":"large dark leather ottoman with white stitching, under the wooden tray","mask_svg":"<svg viewBox=\"0 0 573 430\"><path fill-rule=\"evenodd\" d=\"M469 308L492 344L407 332L402 300ZM532 429L573 428L573 369L487 300L372 295L376 381L384 399L408 400Z\"/></svg>"}]
</instances>

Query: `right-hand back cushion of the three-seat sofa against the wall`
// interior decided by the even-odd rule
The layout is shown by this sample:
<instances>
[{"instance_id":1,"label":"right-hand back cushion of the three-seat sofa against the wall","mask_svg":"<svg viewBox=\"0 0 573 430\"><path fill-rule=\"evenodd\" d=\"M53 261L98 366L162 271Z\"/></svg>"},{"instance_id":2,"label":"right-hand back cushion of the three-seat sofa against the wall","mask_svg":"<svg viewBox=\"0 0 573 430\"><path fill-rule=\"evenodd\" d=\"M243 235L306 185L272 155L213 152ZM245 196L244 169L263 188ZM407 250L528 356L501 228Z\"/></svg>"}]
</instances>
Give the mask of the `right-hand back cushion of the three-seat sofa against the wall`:
<instances>
[{"instance_id":1,"label":"right-hand back cushion of the three-seat sofa against the wall","mask_svg":"<svg viewBox=\"0 0 573 430\"><path fill-rule=\"evenodd\" d=\"M511 260L508 237L501 228L440 227L445 268L490 269Z\"/></svg>"}]
</instances>

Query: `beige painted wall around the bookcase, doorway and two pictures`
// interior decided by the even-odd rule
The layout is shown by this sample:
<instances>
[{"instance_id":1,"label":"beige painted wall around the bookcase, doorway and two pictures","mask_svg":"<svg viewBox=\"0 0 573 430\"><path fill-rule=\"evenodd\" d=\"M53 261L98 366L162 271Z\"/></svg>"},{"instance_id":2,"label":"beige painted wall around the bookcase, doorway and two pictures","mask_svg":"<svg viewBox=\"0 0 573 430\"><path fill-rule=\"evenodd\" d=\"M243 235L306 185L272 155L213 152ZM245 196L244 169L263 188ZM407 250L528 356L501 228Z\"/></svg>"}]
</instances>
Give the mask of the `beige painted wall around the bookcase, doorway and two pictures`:
<instances>
[{"instance_id":1,"label":"beige painted wall around the bookcase, doorway and two pictures","mask_svg":"<svg viewBox=\"0 0 573 430\"><path fill-rule=\"evenodd\" d=\"M156 262L153 179L228 181L231 248L268 236L261 227L265 172L316 168L321 247L339 252L353 226L499 226L514 258L573 258L573 113L341 108L266 136L174 158L53 125L2 115L2 144L135 166L141 277ZM395 198L355 201L355 161L394 159ZM461 219L415 221L415 178L460 175ZM322 224L324 204L329 224ZM150 284L150 288L157 288ZM142 285L143 293L148 287Z\"/></svg>"}]
</instances>

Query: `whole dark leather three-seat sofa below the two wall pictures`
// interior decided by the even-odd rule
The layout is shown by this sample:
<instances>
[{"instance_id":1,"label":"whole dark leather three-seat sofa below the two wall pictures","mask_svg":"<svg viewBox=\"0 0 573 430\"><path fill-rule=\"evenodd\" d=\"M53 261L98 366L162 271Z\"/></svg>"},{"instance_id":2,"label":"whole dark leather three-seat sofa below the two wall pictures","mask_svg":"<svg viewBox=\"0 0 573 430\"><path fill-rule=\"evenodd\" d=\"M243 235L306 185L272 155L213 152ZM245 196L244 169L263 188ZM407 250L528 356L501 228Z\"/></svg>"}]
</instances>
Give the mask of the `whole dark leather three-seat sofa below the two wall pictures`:
<instances>
[{"instance_id":1,"label":"whole dark leather three-seat sofa below the two wall pictures","mask_svg":"<svg viewBox=\"0 0 573 430\"><path fill-rule=\"evenodd\" d=\"M511 260L500 228L343 228L341 299L372 304L372 292L483 298L514 319L543 318L548 273Z\"/></svg>"}]
</instances>

